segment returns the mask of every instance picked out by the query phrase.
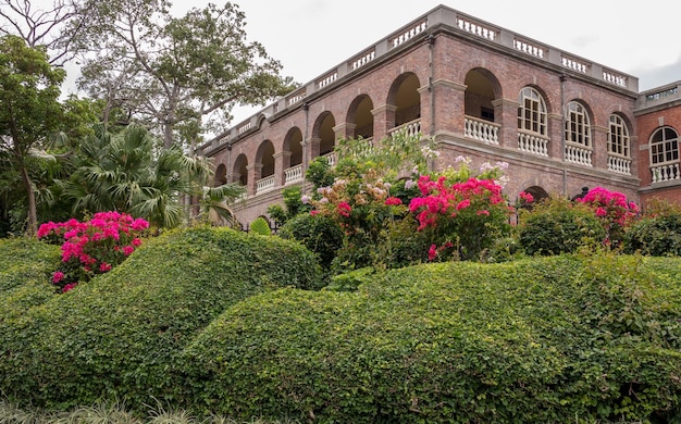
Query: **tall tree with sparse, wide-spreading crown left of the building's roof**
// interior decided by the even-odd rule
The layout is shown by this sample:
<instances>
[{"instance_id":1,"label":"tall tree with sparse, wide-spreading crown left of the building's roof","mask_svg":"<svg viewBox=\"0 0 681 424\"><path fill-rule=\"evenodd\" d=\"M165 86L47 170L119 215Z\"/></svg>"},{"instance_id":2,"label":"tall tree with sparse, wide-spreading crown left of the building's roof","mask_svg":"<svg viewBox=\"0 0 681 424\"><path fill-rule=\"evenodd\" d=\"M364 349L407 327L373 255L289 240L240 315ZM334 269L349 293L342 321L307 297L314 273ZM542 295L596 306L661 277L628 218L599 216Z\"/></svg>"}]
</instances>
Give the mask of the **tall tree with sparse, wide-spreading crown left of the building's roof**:
<instances>
[{"instance_id":1,"label":"tall tree with sparse, wide-spreading crown left of the building's roof","mask_svg":"<svg viewBox=\"0 0 681 424\"><path fill-rule=\"evenodd\" d=\"M77 37L89 52L79 87L157 129L165 148L178 126L214 133L235 104L262 104L292 88L280 62L247 41L237 5L209 4L179 18L169 8L164 0L98 2ZM198 137L184 134L189 144Z\"/></svg>"}]
</instances>

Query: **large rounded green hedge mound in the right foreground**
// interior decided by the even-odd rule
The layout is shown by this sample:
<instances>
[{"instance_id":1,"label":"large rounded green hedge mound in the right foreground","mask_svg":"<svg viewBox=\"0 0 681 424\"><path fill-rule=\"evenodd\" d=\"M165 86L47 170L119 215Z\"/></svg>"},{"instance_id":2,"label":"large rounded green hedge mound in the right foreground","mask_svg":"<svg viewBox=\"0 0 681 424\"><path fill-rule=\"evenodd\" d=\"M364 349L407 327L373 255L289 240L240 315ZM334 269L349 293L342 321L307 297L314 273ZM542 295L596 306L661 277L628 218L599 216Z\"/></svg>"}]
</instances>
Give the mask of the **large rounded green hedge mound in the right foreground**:
<instances>
[{"instance_id":1,"label":"large rounded green hedge mound in the right foreground","mask_svg":"<svg viewBox=\"0 0 681 424\"><path fill-rule=\"evenodd\" d=\"M255 296L186 349L182 397L323 423L678 422L680 270L562 255Z\"/></svg>"}]
</instances>

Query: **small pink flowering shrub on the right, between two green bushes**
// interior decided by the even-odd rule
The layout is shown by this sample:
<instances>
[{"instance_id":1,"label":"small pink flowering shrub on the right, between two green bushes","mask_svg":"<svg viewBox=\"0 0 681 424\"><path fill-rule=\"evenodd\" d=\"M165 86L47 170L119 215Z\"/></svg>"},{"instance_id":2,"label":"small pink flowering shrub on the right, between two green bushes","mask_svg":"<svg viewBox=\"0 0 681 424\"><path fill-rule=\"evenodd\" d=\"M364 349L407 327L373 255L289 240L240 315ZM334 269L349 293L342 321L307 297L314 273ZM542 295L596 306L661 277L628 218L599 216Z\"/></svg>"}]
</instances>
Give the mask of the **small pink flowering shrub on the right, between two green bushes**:
<instances>
[{"instance_id":1,"label":"small pink flowering shrub on the right, between two green bushes","mask_svg":"<svg viewBox=\"0 0 681 424\"><path fill-rule=\"evenodd\" d=\"M577 201L587 204L600 219L607 233L606 245L619 245L624 236L624 228L639 215L636 203L627 201L621 192L603 187L591 189Z\"/></svg>"}]
</instances>

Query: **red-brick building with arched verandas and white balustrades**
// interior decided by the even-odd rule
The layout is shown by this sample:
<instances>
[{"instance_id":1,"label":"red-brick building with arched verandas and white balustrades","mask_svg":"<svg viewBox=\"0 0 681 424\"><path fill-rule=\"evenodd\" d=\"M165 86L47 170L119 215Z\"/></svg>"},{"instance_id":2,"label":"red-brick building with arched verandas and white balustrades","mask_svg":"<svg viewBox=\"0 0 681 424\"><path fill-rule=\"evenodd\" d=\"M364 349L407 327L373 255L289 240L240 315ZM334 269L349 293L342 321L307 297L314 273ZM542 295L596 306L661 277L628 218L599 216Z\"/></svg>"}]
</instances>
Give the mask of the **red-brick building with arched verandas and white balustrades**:
<instances>
[{"instance_id":1,"label":"red-brick building with arched verandas and white balustrades","mask_svg":"<svg viewBox=\"0 0 681 424\"><path fill-rule=\"evenodd\" d=\"M673 87L640 95L634 76L441 5L199 153L214 159L215 184L247 187L234 204L243 224L267 216L283 187L302 184L312 159L333 161L337 139L399 128L436 141L436 169L458 155L473 165L507 162L510 199L523 190L573 196L584 186L636 201L640 190L643 199L679 199Z\"/></svg>"}]
</instances>

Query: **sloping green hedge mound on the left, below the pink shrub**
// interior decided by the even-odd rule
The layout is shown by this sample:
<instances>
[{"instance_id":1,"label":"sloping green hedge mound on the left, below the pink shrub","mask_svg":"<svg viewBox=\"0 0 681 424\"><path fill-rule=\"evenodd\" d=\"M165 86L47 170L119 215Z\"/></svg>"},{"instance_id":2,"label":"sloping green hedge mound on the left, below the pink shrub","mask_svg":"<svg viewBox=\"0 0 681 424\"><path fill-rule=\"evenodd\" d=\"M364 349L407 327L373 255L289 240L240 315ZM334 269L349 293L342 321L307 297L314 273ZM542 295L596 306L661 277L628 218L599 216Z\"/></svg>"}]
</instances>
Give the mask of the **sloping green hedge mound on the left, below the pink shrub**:
<instances>
[{"instance_id":1,"label":"sloping green hedge mound on the left, below the pink shrub","mask_svg":"<svg viewBox=\"0 0 681 424\"><path fill-rule=\"evenodd\" d=\"M313 254L294 242L225 228L173 230L110 273L2 321L0 391L55 409L100 399L136 409L152 397L173 402L177 357L215 316L258 292L319 284ZM3 299L0 311L14 301Z\"/></svg>"}]
</instances>

